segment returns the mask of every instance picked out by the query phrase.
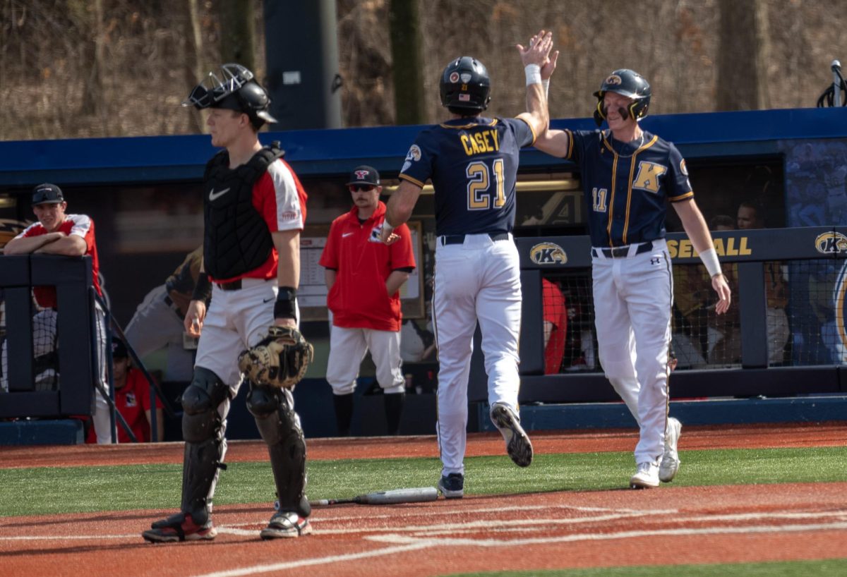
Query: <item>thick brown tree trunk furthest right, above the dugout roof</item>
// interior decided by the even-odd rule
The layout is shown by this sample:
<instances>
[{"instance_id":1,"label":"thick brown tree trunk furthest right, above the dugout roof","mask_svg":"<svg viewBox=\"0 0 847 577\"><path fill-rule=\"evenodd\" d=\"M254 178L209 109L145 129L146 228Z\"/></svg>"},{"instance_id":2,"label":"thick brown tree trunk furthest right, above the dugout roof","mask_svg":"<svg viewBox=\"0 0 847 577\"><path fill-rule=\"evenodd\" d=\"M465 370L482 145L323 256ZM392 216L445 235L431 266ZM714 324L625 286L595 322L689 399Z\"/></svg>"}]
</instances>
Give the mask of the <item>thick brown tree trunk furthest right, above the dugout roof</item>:
<instances>
[{"instance_id":1,"label":"thick brown tree trunk furthest right, above the dugout roof","mask_svg":"<svg viewBox=\"0 0 847 577\"><path fill-rule=\"evenodd\" d=\"M770 107L767 63L770 41L764 0L718 0L717 110ZM696 79L694 80L696 86ZM689 90L692 85L687 87Z\"/></svg>"}]
</instances>

